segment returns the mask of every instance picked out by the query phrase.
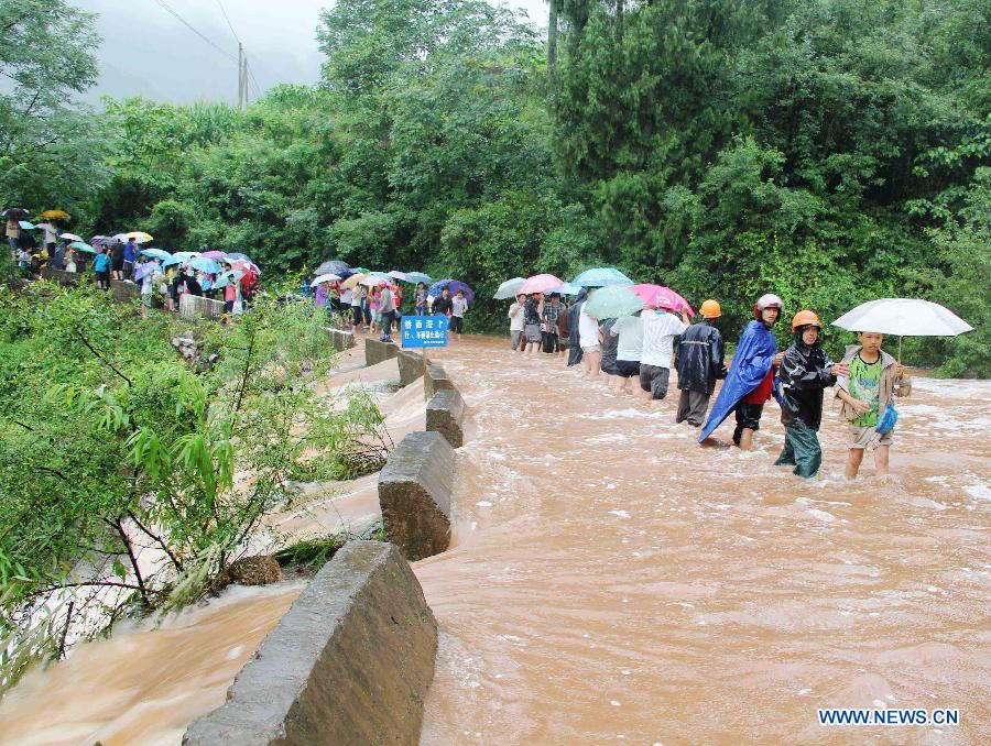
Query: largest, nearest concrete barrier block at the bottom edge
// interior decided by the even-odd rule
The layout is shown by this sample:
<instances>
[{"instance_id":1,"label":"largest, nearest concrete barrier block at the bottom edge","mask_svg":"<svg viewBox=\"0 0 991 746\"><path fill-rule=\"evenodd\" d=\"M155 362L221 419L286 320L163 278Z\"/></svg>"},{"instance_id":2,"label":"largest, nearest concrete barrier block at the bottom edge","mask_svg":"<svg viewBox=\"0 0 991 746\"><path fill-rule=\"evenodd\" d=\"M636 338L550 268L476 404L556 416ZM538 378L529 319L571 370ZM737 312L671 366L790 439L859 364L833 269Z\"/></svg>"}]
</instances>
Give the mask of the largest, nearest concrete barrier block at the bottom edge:
<instances>
[{"instance_id":1,"label":"largest, nearest concrete barrier block at the bottom edge","mask_svg":"<svg viewBox=\"0 0 991 746\"><path fill-rule=\"evenodd\" d=\"M351 541L183 744L416 744L436 654L437 623L399 550Z\"/></svg>"}]
</instances>

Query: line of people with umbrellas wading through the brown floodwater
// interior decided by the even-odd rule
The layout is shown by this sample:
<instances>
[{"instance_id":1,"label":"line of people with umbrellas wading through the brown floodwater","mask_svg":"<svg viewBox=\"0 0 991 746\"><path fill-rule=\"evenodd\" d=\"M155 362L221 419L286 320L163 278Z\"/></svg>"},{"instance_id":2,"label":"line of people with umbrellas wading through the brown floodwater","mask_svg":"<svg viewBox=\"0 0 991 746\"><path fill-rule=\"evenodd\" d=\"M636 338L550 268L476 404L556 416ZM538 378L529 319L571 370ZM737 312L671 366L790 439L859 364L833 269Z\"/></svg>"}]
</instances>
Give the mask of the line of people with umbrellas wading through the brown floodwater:
<instances>
[{"instance_id":1,"label":"line of people with umbrellas wading through the brown floodwater","mask_svg":"<svg viewBox=\"0 0 991 746\"><path fill-rule=\"evenodd\" d=\"M568 304L566 298L574 296ZM695 310L669 287L635 284L614 267L598 267L570 283L548 274L504 282L496 299L510 299L510 345L524 355L567 355L567 365L584 366L584 374L614 377L616 391L632 392L646 401L667 396L671 371L677 373L679 399L676 423L698 428L701 445L733 415L733 443L753 447L764 404L772 397L781 406L785 441L775 465L814 476L821 464L818 430L826 388L835 387L840 416L848 424L847 476L857 476L864 450L874 451L878 474L889 470L889 451L897 413L894 397L907 393L901 385L901 338L957 336L970 331L966 321L934 303L883 298L861 304L831 326L854 331L858 343L847 347L834 362L821 347L823 322L810 309L791 319L793 344L780 352L773 329L785 312L783 300L767 293L753 305L753 320L740 337L729 367L726 365L721 308L709 298ZM897 359L881 349L885 334L896 334ZM722 387L709 410L716 382Z\"/></svg>"}]
</instances>

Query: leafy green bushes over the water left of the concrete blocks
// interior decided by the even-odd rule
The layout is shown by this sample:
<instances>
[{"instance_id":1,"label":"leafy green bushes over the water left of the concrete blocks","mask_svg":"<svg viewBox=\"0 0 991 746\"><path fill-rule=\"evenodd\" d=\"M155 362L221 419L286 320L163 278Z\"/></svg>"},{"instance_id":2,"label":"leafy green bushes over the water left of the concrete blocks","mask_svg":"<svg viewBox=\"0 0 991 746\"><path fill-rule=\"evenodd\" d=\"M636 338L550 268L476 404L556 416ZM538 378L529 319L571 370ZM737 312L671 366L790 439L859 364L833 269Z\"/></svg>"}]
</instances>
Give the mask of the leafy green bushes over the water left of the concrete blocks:
<instances>
[{"instance_id":1,"label":"leafy green bushes over the water left of the concrete blocks","mask_svg":"<svg viewBox=\"0 0 991 746\"><path fill-rule=\"evenodd\" d=\"M190 364L168 314L91 286L0 289L0 689L66 639L202 595L294 481L381 467L373 402L314 387L326 322L262 297L197 330L214 362Z\"/></svg>"}]
</instances>

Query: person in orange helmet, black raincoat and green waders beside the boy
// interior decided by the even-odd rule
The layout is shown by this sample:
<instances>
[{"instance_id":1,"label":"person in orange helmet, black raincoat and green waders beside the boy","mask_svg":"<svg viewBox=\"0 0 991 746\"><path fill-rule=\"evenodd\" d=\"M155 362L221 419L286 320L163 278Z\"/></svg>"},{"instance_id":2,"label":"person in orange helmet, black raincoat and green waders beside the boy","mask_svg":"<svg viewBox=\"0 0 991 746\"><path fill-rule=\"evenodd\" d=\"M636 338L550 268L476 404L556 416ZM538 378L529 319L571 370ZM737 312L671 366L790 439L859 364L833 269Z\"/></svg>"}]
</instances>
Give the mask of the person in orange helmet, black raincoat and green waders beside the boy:
<instances>
[{"instance_id":1,"label":"person in orange helmet, black raincoat and green waders beside the boy","mask_svg":"<svg viewBox=\"0 0 991 746\"><path fill-rule=\"evenodd\" d=\"M843 363L834 363L819 345L819 317L802 310L792 319L795 343L784 353L777 370L782 387L781 424L785 445L775 467L795 467L798 476L815 476L823 463L819 425L823 423L823 390L836 384L837 375L849 375Z\"/></svg>"}]
</instances>

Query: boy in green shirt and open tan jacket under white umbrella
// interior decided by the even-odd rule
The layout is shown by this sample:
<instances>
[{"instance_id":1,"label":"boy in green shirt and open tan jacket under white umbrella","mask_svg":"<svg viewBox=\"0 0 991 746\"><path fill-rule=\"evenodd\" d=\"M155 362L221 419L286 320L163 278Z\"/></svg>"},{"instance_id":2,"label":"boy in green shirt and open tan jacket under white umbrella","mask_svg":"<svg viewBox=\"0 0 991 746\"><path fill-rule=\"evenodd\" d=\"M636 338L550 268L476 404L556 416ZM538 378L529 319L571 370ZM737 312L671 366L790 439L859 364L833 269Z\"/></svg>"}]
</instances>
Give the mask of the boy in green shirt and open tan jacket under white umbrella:
<instances>
[{"instance_id":1,"label":"boy in green shirt and open tan jacket under white umbrella","mask_svg":"<svg viewBox=\"0 0 991 746\"><path fill-rule=\"evenodd\" d=\"M863 451L874 451L874 468L878 475L887 479L887 458L894 436L894 425L881 428L879 420L900 396L899 381L905 369L892 355L881 349L884 334L875 331L857 333L860 344L847 347L842 363L847 372L837 379L836 397L842 402L840 417L849 423L847 438L847 479L856 479L863 461Z\"/></svg>"}]
</instances>

